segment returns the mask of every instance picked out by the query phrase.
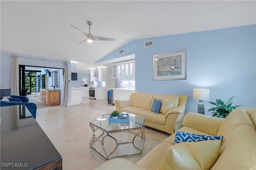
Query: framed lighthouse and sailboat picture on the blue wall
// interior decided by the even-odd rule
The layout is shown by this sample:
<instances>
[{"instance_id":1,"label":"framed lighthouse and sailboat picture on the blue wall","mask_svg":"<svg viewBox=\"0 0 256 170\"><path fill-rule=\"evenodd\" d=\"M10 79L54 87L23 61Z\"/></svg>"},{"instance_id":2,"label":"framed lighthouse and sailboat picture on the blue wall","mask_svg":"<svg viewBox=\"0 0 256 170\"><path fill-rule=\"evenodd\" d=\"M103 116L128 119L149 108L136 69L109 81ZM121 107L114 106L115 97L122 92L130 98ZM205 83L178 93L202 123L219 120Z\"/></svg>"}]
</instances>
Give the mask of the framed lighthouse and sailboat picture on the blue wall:
<instances>
[{"instance_id":1,"label":"framed lighthouse and sailboat picture on the blue wall","mask_svg":"<svg viewBox=\"0 0 256 170\"><path fill-rule=\"evenodd\" d=\"M186 80L187 50L154 55L154 80Z\"/></svg>"}]
</instances>

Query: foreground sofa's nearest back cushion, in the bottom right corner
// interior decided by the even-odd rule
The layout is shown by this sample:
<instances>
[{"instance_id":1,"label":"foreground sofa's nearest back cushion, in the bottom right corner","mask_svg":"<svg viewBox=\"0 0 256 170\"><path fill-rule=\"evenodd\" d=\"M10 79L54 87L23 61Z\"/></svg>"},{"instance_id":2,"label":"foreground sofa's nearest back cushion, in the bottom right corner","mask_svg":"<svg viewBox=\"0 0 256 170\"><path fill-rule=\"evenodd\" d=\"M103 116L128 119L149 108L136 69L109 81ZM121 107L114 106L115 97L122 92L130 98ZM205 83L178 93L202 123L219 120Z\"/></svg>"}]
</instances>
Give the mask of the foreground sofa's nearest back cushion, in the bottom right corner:
<instances>
[{"instance_id":1,"label":"foreground sofa's nearest back cushion, in the bottom right corner","mask_svg":"<svg viewBox=\"0 0 256 170\"><path fill-rule=\"evenodd\" d=\"M220 156L213 170L255 170L256 131L250 125L236 127L227 133L220 147Z\"/></svg>"}]
</instances>

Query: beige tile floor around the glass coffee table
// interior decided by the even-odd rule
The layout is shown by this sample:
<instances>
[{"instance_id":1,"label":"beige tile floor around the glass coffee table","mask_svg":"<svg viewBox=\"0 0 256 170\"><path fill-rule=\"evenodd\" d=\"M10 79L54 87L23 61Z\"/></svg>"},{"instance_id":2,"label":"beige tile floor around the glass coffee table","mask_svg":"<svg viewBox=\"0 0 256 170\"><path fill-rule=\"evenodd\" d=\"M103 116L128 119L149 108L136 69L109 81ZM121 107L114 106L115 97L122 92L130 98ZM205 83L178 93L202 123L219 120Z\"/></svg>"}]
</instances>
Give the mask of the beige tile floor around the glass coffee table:
<instances>
[{"instance_id":1,"label":"beige tile floor around the glass coffee table","mask_svg":"<svg viewBox=\"0 0 256 170\"><path fill-rule=\"evenodd\" d=\"M106 100L82 98L82 103L79 105L54 106L37 110L36 121L62 155L63 170L92 170L106 161L89 146L92 137L89 121L104 113L110 113L115 108L108 105ZM142 154L123 158L137 162L168 135L168 133L145 127Z\"/></svg>"}]
</instances>

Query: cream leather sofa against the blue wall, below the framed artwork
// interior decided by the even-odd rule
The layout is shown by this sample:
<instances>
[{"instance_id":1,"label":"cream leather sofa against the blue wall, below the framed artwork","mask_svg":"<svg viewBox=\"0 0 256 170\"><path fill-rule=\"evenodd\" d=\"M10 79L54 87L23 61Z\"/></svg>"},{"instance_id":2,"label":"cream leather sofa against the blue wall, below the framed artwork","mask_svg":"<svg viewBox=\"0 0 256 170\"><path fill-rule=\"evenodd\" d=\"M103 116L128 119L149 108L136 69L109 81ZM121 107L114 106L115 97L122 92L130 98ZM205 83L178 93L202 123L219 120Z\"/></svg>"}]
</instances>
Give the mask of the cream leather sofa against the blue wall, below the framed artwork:
<instances>
[{"instance_id":1,"label":"cream leather sofa against the blue wall, below the framed artwork","mask_svg":"<svg viewBox=\"0 0 256 170\"><path fill-rule=\"evenodd\" d=\"M150 111L154 98L162 100L160 113ZM174 133L182 127L188 96L132 92L129 99L115 100L116 110L145 117L145 125Z\"/></svg>"}]
</instances>

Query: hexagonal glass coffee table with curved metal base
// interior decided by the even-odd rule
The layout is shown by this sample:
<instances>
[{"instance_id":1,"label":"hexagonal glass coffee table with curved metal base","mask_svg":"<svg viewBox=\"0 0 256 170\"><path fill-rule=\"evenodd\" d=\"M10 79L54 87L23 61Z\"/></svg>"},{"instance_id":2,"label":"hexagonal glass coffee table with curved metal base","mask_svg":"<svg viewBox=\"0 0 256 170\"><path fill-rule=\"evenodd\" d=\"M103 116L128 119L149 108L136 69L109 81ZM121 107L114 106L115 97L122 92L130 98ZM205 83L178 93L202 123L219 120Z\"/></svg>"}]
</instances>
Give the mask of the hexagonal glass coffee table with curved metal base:
<instances>
[{"instance_id":1,"label":"hexagonal glass coffee table with curved metal base","mask_svg":"<svg viewBox=\"0 0 256 170\"><path fill-rule=\"evenodd\" d=\"M110 114L103 114L90 121L93 133L90 147L106 160L141 154L145 139L145 118L128 113L128 123L108 123L109 117Z\"/></svg>"}]
</instances>

